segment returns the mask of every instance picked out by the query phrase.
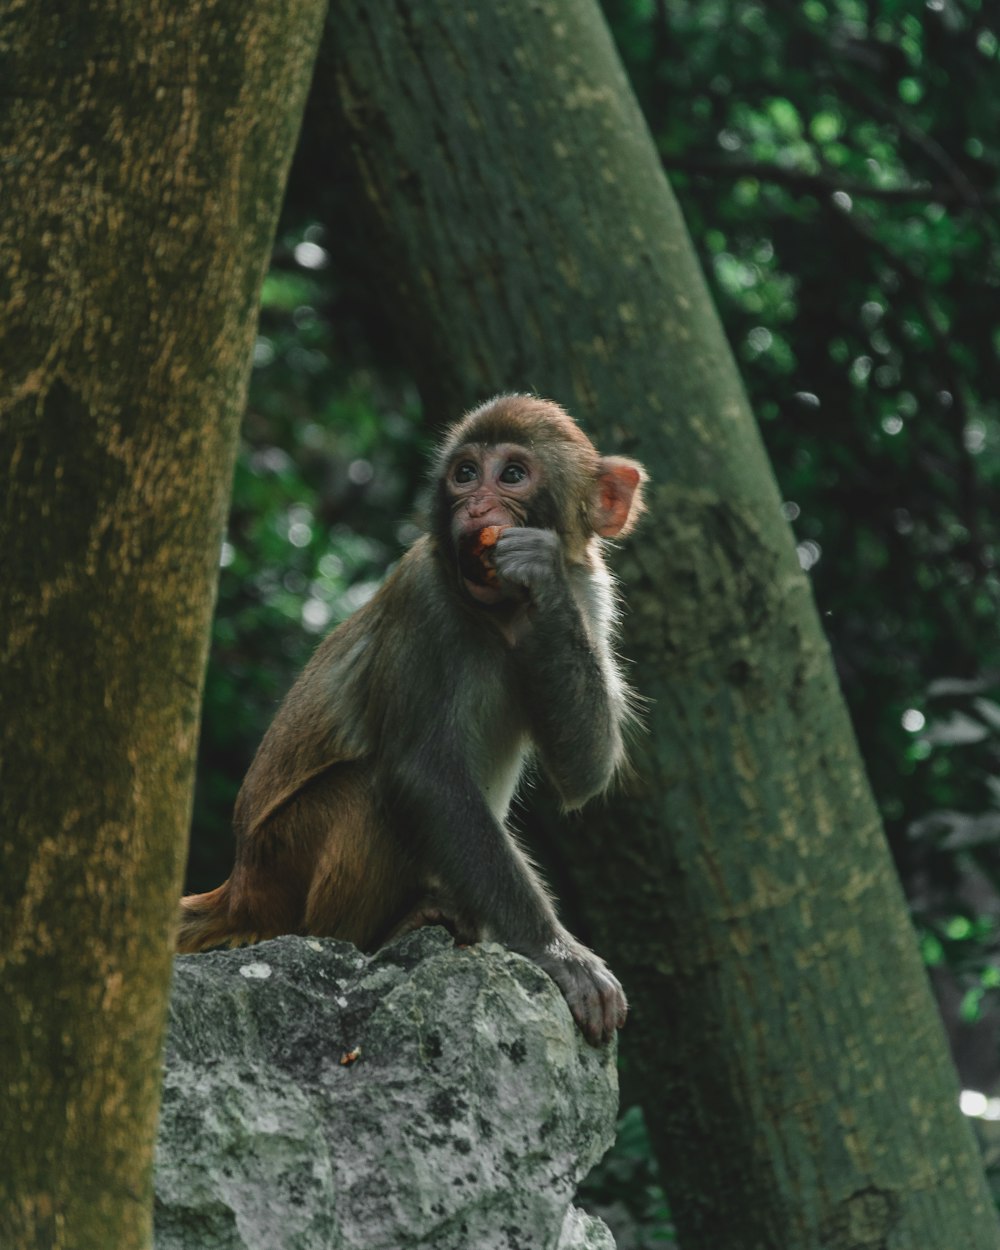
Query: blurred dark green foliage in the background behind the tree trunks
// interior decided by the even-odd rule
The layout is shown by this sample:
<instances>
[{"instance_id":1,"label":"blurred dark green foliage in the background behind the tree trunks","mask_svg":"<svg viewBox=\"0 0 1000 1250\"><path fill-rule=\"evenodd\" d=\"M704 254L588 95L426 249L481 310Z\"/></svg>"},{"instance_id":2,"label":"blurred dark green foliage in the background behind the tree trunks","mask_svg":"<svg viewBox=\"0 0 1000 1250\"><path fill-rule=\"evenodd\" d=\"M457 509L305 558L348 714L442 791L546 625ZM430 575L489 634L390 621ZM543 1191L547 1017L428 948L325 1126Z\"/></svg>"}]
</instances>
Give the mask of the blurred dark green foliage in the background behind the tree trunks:
<instances>
[{"instance_id":1,"label":"blurred dark green foliage in the background behind the tree trunks","mask_svg":"<svg viewBox=\"0 0 1000 1250\"><path fill-rule=\"evenodd\" d=\"M741 362L962 1081L1000 1085L1000 12L605 0ZM322 72L264 288L189 884L320 635L414 534L432 426L339 208ZM361 258L364 261L364 258ZM1000 1104L996 1105L1000 1109ZM988 1128L988 1126L984 1126ZM641 1119L600 1206L670 1238ZM630 1240L631 1239L631 1240Z\"/></svg>"}]
</instances>

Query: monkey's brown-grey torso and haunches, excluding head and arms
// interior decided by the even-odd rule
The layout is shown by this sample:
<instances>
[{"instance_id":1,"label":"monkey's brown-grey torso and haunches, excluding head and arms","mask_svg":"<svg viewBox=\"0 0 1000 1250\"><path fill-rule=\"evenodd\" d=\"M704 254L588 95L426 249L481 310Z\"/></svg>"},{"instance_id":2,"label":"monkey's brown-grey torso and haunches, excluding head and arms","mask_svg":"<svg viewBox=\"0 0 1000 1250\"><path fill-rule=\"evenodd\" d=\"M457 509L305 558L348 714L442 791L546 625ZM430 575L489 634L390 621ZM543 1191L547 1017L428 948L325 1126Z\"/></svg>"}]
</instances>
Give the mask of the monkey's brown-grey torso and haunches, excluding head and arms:
<instances>
[{"instance_id":1,"label":"monkey's brown-grey torso and haunches, excluding head and arms","mask_svg":"<svg viewBox=\"0 0 1000 1250\"><path fill-rule=\"evenodd\" d=\"M481 619L441 610L444 571L420 539L372 599L320 642L275 715L234 814L225 885L182 901L179 949L282 932L378 946L434 889L380 784L391 752L419 750L428 706L452 701L462 754L499 820L528 738L505 646ZM476 645L469 646L475 632ZM461 685L449 660L472 654ZM475 706L462 695L475 691ZM468 696L466 696L468 698Z\"/></svg>"}]
</instances>

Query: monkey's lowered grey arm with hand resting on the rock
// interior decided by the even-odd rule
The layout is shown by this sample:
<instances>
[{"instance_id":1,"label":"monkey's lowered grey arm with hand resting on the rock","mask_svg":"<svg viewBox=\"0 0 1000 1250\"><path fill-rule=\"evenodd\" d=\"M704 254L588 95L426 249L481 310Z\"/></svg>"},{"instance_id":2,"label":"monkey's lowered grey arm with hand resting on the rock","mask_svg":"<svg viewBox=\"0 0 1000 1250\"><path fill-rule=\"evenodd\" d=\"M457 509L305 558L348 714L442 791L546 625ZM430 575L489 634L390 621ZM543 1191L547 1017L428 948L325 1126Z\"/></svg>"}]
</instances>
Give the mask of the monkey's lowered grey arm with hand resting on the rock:
<instances>
[{"instance_id":1,"label":"monkey's lowered grey arm with hand resting on the rock","mask_svg":"<svg viewBox=\"0 0 1000 1250\"><path fill-rule=\"evenodd\" d=\"M625 1022L621 985L559 922L549 895L464 765L461 744L428 736L380 761L394 826L416 844L445 896L476 918L484 936L539 964L556 982L591 1045Z\"/></svg>"}]
</instances>

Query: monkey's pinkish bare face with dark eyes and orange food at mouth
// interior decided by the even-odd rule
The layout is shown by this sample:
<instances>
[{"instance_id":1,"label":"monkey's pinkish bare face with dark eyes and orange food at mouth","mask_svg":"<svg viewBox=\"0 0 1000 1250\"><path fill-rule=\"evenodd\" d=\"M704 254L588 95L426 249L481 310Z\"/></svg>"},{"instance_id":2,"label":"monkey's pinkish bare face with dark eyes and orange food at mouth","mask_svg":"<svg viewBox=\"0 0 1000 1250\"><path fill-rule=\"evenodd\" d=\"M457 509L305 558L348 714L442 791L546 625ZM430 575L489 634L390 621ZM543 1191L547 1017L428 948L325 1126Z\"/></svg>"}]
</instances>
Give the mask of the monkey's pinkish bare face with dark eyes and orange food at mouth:
<instances>
[{"instance_id":1,"label":"monkey's pinkish bare face with dark eyes and orange food at mouth","mask_svg":"<svg viewBox=\"0 0 1000 1250\"><path fill-rule=\"evenodd\" d=\"M466 444L451 456L442 482L451 548L462 588L476 602L515 598L498 580L490 550L499 531L528 524L541 479L538 459L515 442Z\"/></svg>"}]
</instances>

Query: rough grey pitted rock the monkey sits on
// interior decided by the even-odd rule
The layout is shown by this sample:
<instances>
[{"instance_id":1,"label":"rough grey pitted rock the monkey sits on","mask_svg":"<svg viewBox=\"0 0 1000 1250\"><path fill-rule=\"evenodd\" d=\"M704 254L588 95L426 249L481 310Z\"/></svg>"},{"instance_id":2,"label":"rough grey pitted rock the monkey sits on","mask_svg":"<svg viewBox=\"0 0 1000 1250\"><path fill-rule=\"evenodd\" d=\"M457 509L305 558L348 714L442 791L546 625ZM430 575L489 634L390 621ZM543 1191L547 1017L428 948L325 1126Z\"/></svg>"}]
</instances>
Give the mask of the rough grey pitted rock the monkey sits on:
<instances>
[{"instance_id":1,"label":"rough grey pitted rock the monkey sits on","mask_svg":"<svg viewBox=\"0 0 1000 1250\"><path fill-rule=\"evenodd\" d=\"M155 1246L614 1250L570 1202L616 1106L614 1048L501 946L425 929L370 958L304 938L182 956Z\"/></svg>"}]
</instances>

